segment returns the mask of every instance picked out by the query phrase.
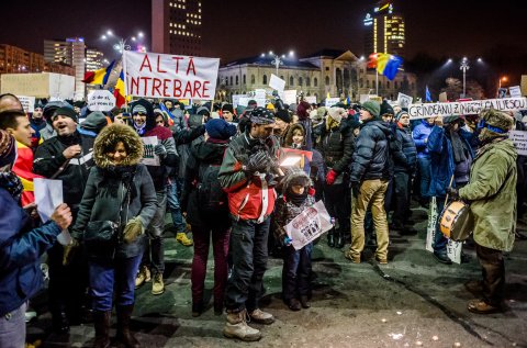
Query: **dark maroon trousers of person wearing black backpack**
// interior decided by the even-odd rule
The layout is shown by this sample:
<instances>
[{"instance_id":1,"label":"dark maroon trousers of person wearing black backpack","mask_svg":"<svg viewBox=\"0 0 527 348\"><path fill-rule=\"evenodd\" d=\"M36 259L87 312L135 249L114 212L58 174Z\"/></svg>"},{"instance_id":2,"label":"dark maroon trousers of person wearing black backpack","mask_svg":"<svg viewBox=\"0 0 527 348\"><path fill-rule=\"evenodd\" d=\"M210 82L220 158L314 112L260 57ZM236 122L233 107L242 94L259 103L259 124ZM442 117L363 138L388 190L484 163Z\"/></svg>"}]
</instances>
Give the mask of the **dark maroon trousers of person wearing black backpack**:
<instances>
[{"instance_id":1,"label":"dark maroon trousers of person wearing black backpack","mask_svg":"<svg viewBox=\"0 0 527 348\"><path fill-rule=\"evenodd\" d=\"M225 287L227 285L227 254L231 229L206 228L202 226L192 226L192 236L194 239L194 257L192 259L192 303L198 304L203 301L203 291L205 289L206 259L209 258L209 247L211 245L214 252L214 308L222 308L225 296Z\"/></svg>"}]
</instances>

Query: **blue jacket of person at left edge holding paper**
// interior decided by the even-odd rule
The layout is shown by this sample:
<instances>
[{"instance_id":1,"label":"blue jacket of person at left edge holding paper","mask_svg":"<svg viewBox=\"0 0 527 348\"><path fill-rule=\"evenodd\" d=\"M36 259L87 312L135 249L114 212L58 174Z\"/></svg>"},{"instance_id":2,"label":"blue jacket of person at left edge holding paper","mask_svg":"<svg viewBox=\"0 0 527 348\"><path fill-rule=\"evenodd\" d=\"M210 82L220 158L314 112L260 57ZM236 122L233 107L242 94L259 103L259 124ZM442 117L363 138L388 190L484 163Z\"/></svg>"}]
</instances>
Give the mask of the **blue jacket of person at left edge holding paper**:
<instances>
[{"instance_id":1,"label":"blue jacket of person at left edge holding paper","mask_svg":"<svg viewBox=\"0 0 527 348\"><path fill-rule=\"evenodd\" d=\"M54 222L31 231L29 226L25 211L0 188L0 316L16 310L41 290L41 255L60 233Z\"/></svg>"}]
</instances>

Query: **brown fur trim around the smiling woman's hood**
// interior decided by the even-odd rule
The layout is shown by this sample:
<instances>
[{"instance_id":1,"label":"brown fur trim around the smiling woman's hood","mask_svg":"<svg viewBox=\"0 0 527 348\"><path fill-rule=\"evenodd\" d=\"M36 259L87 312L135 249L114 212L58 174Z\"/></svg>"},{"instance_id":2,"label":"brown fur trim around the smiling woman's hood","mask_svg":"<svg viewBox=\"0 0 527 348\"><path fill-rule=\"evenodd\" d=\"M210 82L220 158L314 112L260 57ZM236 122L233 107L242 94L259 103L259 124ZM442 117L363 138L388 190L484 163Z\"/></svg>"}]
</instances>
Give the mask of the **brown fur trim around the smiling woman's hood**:
<instances>
[{"instance_id":1,"label":"brown fur trim around the smiling woman's hood","mask_svg":"<svg viewBox=\"0 0 527 348\"><path fill-rule=\"evenodd\" d=\"M113 148L119 142L123 142L127 151L126 159L121 166L135 166L143 158L143 141L137 133L125 124L111 124L104 127L96 138L93 145L93 160L100 168L113 166L106 153Z\"/></svg>"}]
</instances>

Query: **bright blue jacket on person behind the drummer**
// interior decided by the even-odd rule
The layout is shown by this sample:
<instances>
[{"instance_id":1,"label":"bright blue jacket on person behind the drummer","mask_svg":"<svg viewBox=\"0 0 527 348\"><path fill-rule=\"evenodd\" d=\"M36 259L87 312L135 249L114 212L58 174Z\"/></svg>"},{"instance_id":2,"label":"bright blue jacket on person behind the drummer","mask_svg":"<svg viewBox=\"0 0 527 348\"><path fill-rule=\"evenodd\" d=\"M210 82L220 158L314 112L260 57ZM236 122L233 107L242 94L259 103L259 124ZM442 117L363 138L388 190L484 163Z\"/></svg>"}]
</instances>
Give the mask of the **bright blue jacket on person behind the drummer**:
<instances>
[{"instance_id":1,"label":"bright blue jacket on person behind the drummer","mask_svg":"<svg viewBox=\"0 0 527 348\"><path fill-rule=\"evenodd\" d=\"M472 158L474 153L471 144L473 144L474 134L464 130L459 130L461 139L466 143L470 149ZM455 162L452 143L450 138L446 136L445 128L434 126L426 144L431 167L430 188L428 190L429 197L441 197L447 194L447 188L450 184L450 178L453 175ZM452 187L456 187L456 182L452 181Z\"/></svg>"}]
</instances>

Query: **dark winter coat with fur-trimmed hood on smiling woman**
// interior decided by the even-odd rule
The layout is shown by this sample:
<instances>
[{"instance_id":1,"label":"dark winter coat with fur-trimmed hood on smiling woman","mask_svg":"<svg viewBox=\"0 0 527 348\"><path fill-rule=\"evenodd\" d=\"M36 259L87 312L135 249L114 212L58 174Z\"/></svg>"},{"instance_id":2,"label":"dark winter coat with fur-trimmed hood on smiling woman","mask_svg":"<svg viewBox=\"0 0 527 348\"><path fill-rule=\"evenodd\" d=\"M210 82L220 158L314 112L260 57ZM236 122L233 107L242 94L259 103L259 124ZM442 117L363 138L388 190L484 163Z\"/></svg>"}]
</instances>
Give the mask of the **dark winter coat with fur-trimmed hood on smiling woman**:
<instances>
[{"instance_id":1,"label":"dark winter coat with fur-trimmed hood on smiling woman","mask_svg":"<svg viewBox=\"0 0 527 348\"><path fill-rule=\"evenodd\" d=\"M114 144L115 137L128 146L127 158L120 167L128 168L133 173L130 204L126 204L127 190L124 184L126 179L120 175L120 167L115 167L103 150L106 143ZM82 242L83 232L89 222L119 222L121 206L123 206L122 227L128 220L139 216L143 227L146 229L158 207L153 180L146 166L139 164L143 158L143 143L138 135L127 125L111 125L101 132L93 153L97 167L91 169L88 177L72 236ZM124 244L119 238L116 257L130 258L143 254L144 238L142 235L131 244ZM94 256L90 250L87 252L88 257Z\"/></svg>"}]
</instances>

